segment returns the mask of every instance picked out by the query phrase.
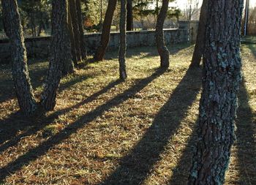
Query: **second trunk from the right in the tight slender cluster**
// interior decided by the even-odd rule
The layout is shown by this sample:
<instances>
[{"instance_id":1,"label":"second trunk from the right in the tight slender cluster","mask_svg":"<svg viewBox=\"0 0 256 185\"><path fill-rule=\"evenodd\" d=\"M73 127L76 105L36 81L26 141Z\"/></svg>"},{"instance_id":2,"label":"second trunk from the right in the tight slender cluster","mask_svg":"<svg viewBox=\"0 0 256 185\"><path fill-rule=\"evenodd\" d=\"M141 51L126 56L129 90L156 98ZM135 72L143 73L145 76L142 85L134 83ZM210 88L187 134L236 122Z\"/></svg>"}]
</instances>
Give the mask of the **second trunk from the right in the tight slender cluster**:
<instances>
[{"instance_id":1,"label":"second trunk from the right in the tight slender cluster","mask_svg":"<svg viewBox=\"0 0 256 185\"><path fill-rule=\"evenodd\" d=\"M72 29L74 32L75 39L75 50L76 50L76 58L78 61L82 61L82 53L81 53L81 43L80 43L80 31L79 31L79 23L78 23L78 13L76 8L77 0L69 0L69 11L71 15Z\"/></svg>"}]
</instances>

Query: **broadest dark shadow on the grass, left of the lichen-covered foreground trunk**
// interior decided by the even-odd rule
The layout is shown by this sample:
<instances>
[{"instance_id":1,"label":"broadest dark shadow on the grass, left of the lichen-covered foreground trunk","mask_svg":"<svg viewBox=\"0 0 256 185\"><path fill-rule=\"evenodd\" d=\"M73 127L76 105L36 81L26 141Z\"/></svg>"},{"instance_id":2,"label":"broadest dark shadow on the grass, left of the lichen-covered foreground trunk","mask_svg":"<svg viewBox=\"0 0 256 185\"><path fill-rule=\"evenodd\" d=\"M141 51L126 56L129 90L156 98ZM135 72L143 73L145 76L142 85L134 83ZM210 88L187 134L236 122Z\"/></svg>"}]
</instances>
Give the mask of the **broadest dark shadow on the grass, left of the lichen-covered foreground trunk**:
<instances>
[{"instance_id":1,"label":"broadest dark shadow on the grass, left of the lichen-covered foreground trunk","mask_svg":"<svg viewBox=\"0 0 256 185\"><path fill-rule=\"evenodd\" d=\"M159 161L170 137L177 132L189 106L200 91L200 85L200 69L188 69L143 138L101 184L142 184L154 164Z\"/></svg>"}]
</instances>

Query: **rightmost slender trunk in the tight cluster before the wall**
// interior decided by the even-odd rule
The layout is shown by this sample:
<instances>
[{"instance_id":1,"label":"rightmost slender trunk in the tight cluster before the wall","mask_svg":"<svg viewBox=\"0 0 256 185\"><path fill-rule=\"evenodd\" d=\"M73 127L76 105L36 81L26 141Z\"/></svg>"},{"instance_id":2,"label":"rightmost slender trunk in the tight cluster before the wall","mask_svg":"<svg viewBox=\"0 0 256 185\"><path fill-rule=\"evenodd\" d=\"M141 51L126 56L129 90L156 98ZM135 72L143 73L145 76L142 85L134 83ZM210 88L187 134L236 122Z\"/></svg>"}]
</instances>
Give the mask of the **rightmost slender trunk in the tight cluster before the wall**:
<instances>
[{"instance_id":1,"label":"rightmost slender trunk in the tight cluster before the wall","mask_svg":"<svg viewBox=\"0 0 256 185\"><path fill-rule=\"evenodd\" d=\"M86 59L86 42L83 37L83 20L82 20L82 10L81 10L81 1L76 0L77 15L78 15L78 26L80 32L80 50L83 59Z\"/></svg>"}]
</instances>

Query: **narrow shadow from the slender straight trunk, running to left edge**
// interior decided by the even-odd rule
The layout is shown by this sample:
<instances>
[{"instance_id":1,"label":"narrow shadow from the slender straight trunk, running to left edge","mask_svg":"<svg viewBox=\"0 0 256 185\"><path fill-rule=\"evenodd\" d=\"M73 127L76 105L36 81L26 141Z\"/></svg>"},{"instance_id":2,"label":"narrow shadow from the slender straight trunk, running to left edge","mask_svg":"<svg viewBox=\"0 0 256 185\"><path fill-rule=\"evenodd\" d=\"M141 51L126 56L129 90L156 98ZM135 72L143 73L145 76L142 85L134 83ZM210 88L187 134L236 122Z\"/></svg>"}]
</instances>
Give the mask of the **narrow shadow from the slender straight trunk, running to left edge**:
<instances>
[{"instance_id":1,"label":"narrow shadow from the slender straight trunk, running to left edge","mask_svg":"<svg viewBox=\"0 0 256 185\"><path fill-rule=\"evenodd\" d=\"M27 137L29 135L33 135L35 132L39 131L43 127L47 126L48 124L51 124L52 121L55 118L58 118L60 115L63 115L64 113L68 113L70 110L77 109L81 105L85 105L89 102L94 101L94 99L97 99L97 97L99 97L100 95L105 94L111 88L114 88L116 85L118 85L118 83L121 83L121 80L114 80L113 82L109 83L108 86L105 86L105 88L102 88L102 90L97 91L95 94L92 94L90 97L84 99L82 102L78 103L77 105L74 105L72 107L67 107L62 110L58 110L48 117L40 118L40 120L31 121L29 119L23 118L23 116L20 115L19 113L15 113L15 115L11 116L11 118L4 121L5 124L1 123L2 121L0 121L0 125L2 126L1 130L3 131L3 135L6 135L5 137L3 137L3 135L1 136L2 139L0 140L0 143L4 143L4 141L8 140L6 143L4 143L0 146L0 154L2 151L5 151L7 148L16 146L22 137ZM15 122L15 120L17 120L17 119L23 120L23 122L21 122L21 123L20 123L20 121ZM20 129L27 128L27 130L26 130L26 132L23 132L22 134L14 137L16 132L12 128L15 128L16 132ZM10 132L10 130L11 130L11 132Z\"/></svg>"}]
</instances>

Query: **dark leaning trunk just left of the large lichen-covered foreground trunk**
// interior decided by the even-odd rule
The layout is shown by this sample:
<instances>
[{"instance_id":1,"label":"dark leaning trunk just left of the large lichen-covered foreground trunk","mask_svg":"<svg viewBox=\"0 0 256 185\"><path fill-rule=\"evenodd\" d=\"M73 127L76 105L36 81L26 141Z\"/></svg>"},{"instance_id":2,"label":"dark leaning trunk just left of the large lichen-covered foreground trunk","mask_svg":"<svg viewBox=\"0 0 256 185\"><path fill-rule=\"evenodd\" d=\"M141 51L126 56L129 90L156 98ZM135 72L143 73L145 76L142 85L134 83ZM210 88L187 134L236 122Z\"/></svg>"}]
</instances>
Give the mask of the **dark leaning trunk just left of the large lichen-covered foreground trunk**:
<instances>
[{"instance_id":1,"label":"dark leaning trunk just left of the large lichen-covered foreground trunk","mask_svg":"<svg viewBox=\"0 0 256 185\"><path fill-rule=\"evenodd\" d=\"M195 49L194 49L192 62L191 62L192 67L200 67L200 61L203 56L205 30L206 30L207 4L208 4L208 0L203 0L203 4L200 10L200 20L198 24L197 40L195 42Z\"/></svg>"}]
</instances>

